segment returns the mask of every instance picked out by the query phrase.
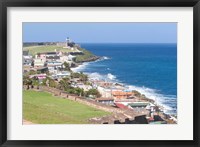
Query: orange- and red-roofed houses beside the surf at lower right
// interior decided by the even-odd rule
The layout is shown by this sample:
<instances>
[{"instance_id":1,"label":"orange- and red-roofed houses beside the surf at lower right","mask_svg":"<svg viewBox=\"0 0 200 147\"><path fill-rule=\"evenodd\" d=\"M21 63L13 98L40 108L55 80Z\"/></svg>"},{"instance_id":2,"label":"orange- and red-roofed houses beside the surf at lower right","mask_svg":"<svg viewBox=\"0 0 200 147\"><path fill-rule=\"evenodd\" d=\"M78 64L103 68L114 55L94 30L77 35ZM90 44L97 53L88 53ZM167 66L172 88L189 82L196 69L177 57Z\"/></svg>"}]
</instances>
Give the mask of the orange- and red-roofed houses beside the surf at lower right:
<instances>
[{"instance_id":1,"label":"orange- and red-roofed houses beside the surf at lower right","mask_svg":"<svg viewBox=\"0 0 200 147\"><path fill-rule=\"evenodd\" d=\"M149 115L147 116L149 123L155 123L155 121L157 123L166 123L162 119L155 119L155 116L157 116L155 114L157 114L157 112L163 112L160 107L153 102L139 98L134 91L129 90L123 84L102 80L91 80L91 83L102 95L102 97L95 99L96 102L113 105L122 109L133 110L141 114L143 112L149 112Z\"/></svg>"}]
</instances>

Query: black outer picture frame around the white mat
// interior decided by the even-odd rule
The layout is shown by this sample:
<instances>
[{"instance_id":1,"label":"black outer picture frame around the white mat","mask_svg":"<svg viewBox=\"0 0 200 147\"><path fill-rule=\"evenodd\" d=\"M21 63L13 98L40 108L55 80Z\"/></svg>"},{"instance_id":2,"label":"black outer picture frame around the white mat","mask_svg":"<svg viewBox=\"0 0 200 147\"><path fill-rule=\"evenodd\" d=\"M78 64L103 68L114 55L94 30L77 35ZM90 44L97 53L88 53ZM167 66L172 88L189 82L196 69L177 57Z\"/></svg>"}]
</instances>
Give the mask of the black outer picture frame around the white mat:
<instances>
[{"instance_id":1,"label":"black outer picture frame around the white mat","mask_svg":"<svg viewBox=\"0 0 200 147\"><path fill-rule=\"evenodd\" d=\"M0 146L199 146L200 0L0 0ZM7 7L193 7L193 140L7 140Z\"/></svg>"}]
</instances>

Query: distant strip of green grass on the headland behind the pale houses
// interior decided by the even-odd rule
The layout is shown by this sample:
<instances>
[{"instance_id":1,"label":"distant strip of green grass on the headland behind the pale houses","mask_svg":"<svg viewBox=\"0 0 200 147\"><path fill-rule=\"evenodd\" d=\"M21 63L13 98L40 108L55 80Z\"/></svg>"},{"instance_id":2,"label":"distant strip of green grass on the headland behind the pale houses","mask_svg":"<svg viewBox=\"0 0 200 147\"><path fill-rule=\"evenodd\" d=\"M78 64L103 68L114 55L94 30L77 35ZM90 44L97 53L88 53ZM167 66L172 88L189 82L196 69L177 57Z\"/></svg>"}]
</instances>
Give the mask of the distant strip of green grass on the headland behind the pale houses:
<instances>
[{"instance_id":1,"label":"distant strip of green grass on the headland behind the pale houses","mask_svg":"<svg viewBox=\"0 0 200 147\"><path fill-rule=\"evenodd\" d=\"M56 45L49 45L49 46L30 46L30 47L24 47L23 50L27 51L29 50L29 53L31 55L36 55L37 53L44 53L44 52L54 52L55 49L57 51L63 51L63 52L69 52L71 50L56 46Z\"/></svg>"}]
</instances>

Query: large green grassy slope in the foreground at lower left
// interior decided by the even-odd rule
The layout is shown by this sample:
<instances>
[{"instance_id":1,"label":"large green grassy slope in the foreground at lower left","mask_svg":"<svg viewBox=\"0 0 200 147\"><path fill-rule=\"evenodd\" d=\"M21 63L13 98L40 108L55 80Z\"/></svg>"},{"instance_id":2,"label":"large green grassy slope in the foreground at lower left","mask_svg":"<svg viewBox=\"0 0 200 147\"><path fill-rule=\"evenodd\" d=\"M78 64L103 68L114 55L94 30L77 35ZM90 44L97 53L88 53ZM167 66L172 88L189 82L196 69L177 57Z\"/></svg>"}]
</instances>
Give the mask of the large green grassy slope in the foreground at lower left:
<instances>
[{"instance_id":1,"label":"large green grassy slope in the foreground at lower left","mask_svg":"<svg viewBox=\"0 0 200 147\"><path fill-rule=\"evenodd\" d=\"M87 124L110 113L46 92L23 91L23 119L37 124Z\"/></svg>"}]
</instances>

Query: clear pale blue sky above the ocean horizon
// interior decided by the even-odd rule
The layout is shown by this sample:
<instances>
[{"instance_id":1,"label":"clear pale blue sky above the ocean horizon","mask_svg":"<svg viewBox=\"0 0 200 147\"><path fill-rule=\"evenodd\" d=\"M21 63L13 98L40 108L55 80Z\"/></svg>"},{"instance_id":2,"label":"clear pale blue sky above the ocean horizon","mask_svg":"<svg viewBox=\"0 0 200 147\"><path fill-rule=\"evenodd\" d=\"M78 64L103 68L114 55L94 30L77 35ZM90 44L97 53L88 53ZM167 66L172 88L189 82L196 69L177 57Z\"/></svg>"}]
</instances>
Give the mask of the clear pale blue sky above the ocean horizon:
<instances>
[{"instance_id":1,"label":"clear pale blue sky above the ocean horizon","mask_svg":"<svg viewBox=\"0 0 200 147\"><path fill-rule=\"evenodd\" d=\"M177 23L23 23L23 42L176 43Z\"/></svg>"}]
</instances>

